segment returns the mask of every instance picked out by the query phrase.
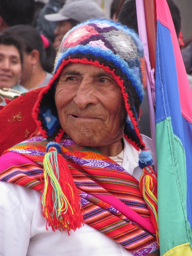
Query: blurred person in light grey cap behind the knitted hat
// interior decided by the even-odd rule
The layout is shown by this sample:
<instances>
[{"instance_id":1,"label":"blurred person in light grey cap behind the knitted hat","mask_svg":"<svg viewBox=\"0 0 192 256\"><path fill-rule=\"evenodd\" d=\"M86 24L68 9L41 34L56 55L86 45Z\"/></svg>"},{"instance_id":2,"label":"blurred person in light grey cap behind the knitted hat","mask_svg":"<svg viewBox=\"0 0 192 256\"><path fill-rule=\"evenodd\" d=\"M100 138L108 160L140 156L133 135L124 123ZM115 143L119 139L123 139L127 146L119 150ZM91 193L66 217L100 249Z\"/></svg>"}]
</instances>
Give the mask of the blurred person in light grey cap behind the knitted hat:
<instances>
[{"instance_id":1,"label":"blurred person in light grey cap behind the knitted hat","mask_svg":"<svg viewBox=\"0 0 192 256\"><path fill-rule=\"evenodd\" d=\"M105 18L102 9L93 0L67 1L58 13L45 15L46 20L57 21L53 43L57 49L63 36L76 24L94 18Z\"/></svg>"}]
</instances>

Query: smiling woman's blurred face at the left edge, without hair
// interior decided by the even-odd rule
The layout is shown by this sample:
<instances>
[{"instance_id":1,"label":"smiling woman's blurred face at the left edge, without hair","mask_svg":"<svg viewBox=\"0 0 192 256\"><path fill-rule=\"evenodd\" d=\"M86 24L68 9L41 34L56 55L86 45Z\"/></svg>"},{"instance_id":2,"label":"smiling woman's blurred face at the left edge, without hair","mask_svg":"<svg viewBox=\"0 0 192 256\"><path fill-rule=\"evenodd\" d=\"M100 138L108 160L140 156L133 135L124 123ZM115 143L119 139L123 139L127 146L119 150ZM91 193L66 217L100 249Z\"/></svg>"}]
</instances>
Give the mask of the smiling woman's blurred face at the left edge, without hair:
<instances>
[{"instance_id":1,"label":"smiling woman's blurred face at the left edge, without hair","mask_svg":"<svg viewBox=\"0 0 192 256\"><path fill-rule=\"evenodd\" d=\"M21 74L21 59L14 45L0 44L0 88L12 88Z\"/></svg>"}]
</instances>

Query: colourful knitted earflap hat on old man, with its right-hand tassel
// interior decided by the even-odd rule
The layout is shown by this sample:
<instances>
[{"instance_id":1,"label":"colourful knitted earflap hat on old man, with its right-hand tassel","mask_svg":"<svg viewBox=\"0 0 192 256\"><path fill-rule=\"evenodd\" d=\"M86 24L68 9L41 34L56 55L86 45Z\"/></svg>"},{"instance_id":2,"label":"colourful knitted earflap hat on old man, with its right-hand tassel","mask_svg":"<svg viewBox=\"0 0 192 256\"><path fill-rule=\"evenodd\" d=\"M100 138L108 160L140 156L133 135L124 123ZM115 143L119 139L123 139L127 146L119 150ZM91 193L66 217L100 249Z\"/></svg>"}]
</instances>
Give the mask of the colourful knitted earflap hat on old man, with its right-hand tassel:
<instances>
[{"instance_id":1,"label":"colourful knitted earflap hat on old man, with its right-hand tassel","mask_svg":"<svg viewBox=\"0 0 192 256\"><path fill-rule=\"evenodd\" d=\"M33 113L42 136L48 141L59 142L64 134L59 123L54 96L59 75L69 62L102 67L113 75L121 88L127 111L125 139L141 151L139 154L140 168L155 175L149 167L152 158L149 151L145 149L138 125L139 107L143 99L143 87L146 80L143 46L139 37L126 26L114 21L99 19L78 24L64 36L55 60L53 78L41 91ZM149 184L151 181L145 181L143 177L141 186L147 182ZM151 190L154 190L153 184L149 186ZM145 187L141 188L143 189L146 190ZM145 198L145 191L143 197ZM155 212L157 210L157 205L154 203L156 198L151 196L148 201L150 200L152 204L155 204L155 209L153 209L154 206L149 206L149 209L152 207L152 212Z\"/></svg>"}]
</instances>

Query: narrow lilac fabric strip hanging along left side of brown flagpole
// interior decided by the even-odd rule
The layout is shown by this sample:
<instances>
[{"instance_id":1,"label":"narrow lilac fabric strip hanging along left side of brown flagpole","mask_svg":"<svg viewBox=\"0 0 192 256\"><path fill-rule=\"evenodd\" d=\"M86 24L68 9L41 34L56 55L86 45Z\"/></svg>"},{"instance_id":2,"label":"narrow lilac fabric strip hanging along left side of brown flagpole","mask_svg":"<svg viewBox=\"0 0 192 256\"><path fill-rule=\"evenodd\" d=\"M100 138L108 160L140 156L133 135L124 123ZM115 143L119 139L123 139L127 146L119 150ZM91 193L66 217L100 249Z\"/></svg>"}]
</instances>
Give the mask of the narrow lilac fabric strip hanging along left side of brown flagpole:
<instances>
[{"instance_id":1,"label":"narrow lilac fabric strip hanging along left side of brown flagpole","mask_svg":"<svg viewBox=\"0 0 192 256\"><path fill-rule=\"evenodd\" d=\"M151 70L151 64L149 61L149 50L148 50L148 40L147 40L147 30L146 30L146 21L145 21L145 8L143 0L136 0L137 8L137 23L139 29L139 37L143 43L145 63L146 63L146 90L147 90L147 99L149 106L149 120L151 127L151 137L152 137L152 146L153 146L153 160L155 172L157 172L157 155L156 155L156 144L155 144L155 110L152 99L152 90L151 87L155 87L153 77L153 71Z\"/></svg>"}]
</instances>

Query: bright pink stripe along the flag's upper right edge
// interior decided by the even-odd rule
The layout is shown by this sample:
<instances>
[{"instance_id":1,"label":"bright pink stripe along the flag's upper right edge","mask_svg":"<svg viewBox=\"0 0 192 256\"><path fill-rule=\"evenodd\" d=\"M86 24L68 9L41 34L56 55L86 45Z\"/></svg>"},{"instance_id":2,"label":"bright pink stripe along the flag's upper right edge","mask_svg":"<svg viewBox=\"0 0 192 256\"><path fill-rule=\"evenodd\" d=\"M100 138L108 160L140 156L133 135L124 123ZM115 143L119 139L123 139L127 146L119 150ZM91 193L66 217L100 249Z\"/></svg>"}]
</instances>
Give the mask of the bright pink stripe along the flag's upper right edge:
<instances>
[{"instance_id":1,"label":"bright pink stripe along the flag's upper right edge","mask_svg":"<svg viewBox=\"0 0 192 256\"><path fill-rule=\"evenodd\" d=\"M156 7L157 7L157 19L160 21L161 24L168 27L168 29L171 32L171 38L173 42L176 68L177 68L181 113L187 121L192 123L192 111L191 111L192 110L192 93L190 90L189 81L187 79L187 74L186 74L183 59L181 56L181 51L178 44L177 35L175 32L171 13L169 11L169 7L166 0L156 1Z\"/></svg>"}]
</instances>

